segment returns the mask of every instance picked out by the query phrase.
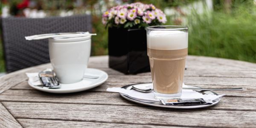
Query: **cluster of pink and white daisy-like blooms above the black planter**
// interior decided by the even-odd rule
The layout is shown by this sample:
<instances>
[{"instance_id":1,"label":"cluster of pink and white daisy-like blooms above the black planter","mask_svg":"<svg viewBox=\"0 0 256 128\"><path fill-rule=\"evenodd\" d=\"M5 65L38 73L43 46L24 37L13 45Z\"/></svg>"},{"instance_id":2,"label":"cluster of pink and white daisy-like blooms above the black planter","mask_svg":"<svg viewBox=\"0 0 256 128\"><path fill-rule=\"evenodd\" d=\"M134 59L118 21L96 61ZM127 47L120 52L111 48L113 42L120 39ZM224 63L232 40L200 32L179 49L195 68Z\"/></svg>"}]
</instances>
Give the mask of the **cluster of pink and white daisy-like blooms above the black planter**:
<instances>
[{"instance_id":1,"label":"cluster of pink and white daisy-like blooms above the black planter","mask_svg":"<svg viewBox=\"0 0 256 128\"><path fill-rule=\"evenodd\" d=\"M153 4L143 4L140 2L112 7L102 15L103 24L118 25L130 21L136 25L141 22L154 25L166 23L167 20L163 11L157 9Z\"/></svg>"}]
</instances>

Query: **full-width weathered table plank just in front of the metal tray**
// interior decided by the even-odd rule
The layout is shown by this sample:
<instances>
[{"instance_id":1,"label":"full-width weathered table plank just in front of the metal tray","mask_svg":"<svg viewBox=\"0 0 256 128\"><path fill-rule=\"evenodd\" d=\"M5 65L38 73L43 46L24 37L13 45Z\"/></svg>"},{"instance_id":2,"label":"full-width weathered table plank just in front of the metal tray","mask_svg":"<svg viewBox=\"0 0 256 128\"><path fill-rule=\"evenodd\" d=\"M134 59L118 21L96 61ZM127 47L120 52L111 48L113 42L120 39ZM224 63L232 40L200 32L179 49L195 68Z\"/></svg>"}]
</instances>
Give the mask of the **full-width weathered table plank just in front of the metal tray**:
<instances>
[{"instance_id":1,"label":"full-width weathered table plank just in front of the metal tray","mask_svg":"<svg viewBox=\"0 0 256 128\"><path fill-rule=\"evenodd\" d=\"M256 112L154 107L3 102L15 118L145 125L254 127Z\"/></svg>"}]
</instances>

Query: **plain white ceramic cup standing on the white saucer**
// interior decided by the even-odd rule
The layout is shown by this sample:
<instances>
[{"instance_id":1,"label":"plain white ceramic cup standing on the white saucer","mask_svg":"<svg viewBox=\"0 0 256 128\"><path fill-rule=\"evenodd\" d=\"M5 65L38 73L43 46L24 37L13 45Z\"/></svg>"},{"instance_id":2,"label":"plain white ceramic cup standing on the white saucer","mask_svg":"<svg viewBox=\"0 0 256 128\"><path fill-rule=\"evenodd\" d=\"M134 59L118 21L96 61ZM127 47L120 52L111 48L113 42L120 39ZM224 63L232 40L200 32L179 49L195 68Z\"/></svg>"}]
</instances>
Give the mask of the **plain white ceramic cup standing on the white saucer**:
<instances>
[{"instance_id":1,"label":"plain white ceramic cup standing on the white saucer","mask_svg":"<svg viewBox=\"0 0 256 128\"><path fill-rule=\"evenodd\" d=\"M60 83L76 83L83 79L90 57L91 36L49 38L49 55Z\"/></svg>"}]
</instances>

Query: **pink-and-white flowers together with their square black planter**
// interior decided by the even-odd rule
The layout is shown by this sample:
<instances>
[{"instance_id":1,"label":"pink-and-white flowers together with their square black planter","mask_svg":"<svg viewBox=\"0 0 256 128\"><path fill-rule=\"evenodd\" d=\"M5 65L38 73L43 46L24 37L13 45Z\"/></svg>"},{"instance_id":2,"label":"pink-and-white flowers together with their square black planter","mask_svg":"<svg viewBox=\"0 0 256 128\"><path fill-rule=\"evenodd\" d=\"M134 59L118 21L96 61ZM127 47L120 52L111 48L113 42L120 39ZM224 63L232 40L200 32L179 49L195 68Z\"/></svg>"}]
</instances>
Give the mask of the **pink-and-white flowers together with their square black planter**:
<instances>
[{"instance_id":1,"label":"pink-and-white flowers together with their square black planter","mask_svg":"<svg viewBox=\"0 0 256 128\"><path fill-rule=\"evenodd\" d=\"M108 28L109 67L125 74L149 72L145 27L166 23L166 15L152 4L115 6L102 15Z\"/></svg>"}]
</instances>

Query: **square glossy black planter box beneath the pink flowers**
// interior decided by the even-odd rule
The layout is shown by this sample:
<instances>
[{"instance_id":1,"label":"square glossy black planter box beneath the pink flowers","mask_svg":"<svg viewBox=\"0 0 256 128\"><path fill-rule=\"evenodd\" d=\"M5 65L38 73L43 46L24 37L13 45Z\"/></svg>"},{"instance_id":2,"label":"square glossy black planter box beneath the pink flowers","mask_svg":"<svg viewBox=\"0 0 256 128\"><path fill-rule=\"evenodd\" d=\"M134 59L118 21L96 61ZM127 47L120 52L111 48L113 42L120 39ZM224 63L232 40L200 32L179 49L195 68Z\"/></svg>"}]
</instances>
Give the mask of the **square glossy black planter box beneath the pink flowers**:
<instances>
[{"instance_id":1,"label":"square glossy black planter box beneath the pink flowers","mask_svg":"<svg viewBox=\"0 0 256 128\"><path fill-rule=\"evenodd\" d=\"M109 67L125 74L150 72L145 29L108 28Z\"/></svg>"}]
</instances>

